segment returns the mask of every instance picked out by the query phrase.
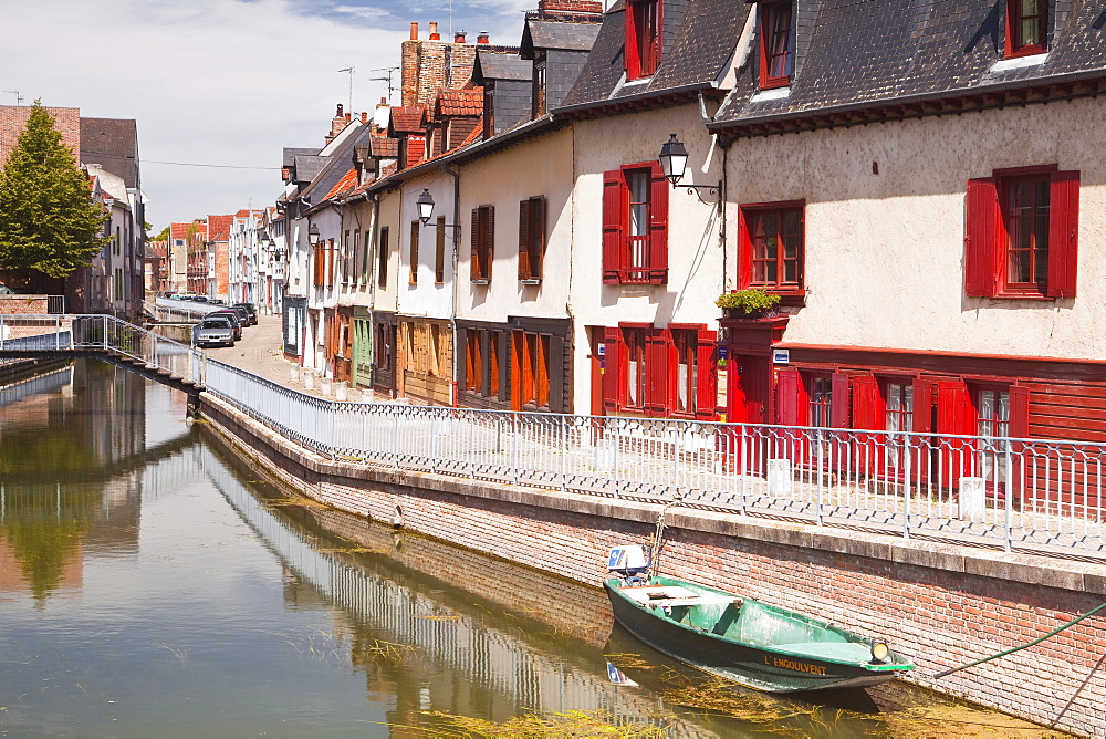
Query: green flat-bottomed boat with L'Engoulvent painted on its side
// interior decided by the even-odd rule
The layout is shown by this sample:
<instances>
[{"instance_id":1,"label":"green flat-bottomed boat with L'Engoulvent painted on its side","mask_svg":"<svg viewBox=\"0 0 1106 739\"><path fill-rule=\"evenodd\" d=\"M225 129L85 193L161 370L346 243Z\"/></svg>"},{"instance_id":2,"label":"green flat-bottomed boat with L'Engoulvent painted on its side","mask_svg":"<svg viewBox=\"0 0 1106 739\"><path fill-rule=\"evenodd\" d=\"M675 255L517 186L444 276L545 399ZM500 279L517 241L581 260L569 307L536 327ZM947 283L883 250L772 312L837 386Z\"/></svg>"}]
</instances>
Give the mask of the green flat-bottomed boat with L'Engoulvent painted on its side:
<instances>
[{"instance_id":1,"label":"green flat-bottomed boat with L'Engoulvent painted on its side","mask_svg":"<svg viewBox=\"0 0 1106 739\"><path fill-rule=\"evenodd\" d=\"M868 687L912 669L883 639L674 577L604 582L615 618L653 648L768 693Z\"/></svg>"}]
</instances>

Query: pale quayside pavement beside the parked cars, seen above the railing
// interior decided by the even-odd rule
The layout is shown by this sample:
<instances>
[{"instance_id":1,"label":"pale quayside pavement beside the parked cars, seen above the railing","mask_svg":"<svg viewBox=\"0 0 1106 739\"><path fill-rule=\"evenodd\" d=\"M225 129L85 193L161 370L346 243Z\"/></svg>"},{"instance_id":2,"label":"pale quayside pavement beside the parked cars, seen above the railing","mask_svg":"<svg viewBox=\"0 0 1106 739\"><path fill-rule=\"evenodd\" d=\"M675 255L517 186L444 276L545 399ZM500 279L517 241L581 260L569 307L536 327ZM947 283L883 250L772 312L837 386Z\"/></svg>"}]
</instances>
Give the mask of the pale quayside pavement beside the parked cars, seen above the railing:
<instances>
[{"instance_id":1,"label":"pale quayside pavement beside the parked cars, seen above the railing","mask_svg":"<svg viewBox=\"0 0 1106 739\"><path fill-rule=\"evenodd\" d=\"M289 362L284 357L283 342L281 316L258 315L258 325L243 329L241 341L233 346L219 346L204 351L212 360L259 375L278 385L335 399L333 387L330 393L324 392L330 385L328 381L321 381L319 377L302 372L299 363ZM305 378L310 378L310 382L305 383ZM345 399L355 403L373 400L373 392L368 389L347 389L346 395Z\"/></svg>"}]
</instances>

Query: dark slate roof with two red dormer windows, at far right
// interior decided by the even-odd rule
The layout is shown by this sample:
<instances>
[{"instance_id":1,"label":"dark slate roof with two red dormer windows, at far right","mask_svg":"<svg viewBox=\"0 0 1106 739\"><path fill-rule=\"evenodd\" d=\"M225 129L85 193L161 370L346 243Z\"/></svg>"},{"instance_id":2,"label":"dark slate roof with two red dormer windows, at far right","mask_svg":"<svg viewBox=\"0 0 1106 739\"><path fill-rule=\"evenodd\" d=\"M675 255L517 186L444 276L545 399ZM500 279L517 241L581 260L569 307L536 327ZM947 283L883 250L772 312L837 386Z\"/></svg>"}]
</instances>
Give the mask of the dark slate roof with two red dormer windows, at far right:
<instances>
[{"instance_id":1,"label":"dark slate roof with two red dormer windows, at far right","mask_svg":"<svg viewBox=\"0 0 1106 739\"><path fill-rule=\"evenodd\" d=\"M1047 55L1010 61L1004 9L995 0L820 0L786 96L758 94L752 53L711 127L1106 75L1098 0L1055 0Z\"/></svg>"}]
</instances>

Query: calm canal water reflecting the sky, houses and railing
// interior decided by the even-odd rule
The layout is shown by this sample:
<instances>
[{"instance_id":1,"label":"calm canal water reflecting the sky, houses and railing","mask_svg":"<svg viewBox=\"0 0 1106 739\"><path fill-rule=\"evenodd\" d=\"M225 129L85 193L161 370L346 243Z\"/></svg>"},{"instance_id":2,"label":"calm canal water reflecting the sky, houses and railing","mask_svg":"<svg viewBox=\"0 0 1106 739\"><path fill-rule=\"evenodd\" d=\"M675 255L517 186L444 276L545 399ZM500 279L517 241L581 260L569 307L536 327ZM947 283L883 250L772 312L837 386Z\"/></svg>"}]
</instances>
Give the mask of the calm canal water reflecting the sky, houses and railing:
<instances>
[{"instance_id":1,"label":"calm canal water reflecting the sky, houses and railing","mask_svg":"<svg viewBox=\"0 0 1106 739\"><path fill-rule=\"evenodd\" d=\"M597 590L289 497L185 405L93 361L0 383L0 736L1063 736L720 686Z\"/></svg>"}]
</instances>

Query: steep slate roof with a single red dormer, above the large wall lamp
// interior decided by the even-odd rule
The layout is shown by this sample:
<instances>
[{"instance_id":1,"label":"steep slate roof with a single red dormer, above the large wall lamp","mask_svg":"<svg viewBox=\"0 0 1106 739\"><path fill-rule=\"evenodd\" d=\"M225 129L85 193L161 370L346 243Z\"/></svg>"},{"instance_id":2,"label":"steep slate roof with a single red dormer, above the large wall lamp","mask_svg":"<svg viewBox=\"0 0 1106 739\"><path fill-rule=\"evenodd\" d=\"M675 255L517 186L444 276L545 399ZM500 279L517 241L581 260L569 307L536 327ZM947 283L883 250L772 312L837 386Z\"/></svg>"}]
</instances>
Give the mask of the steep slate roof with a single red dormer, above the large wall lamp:
<instances>
[{"instance_id":1,"label":"steep slate roof with a single red dormer, above the large wall lamp","mask_svg":"<svg viewBox=\"0 0 1106 739\"><path fill-rule=\"evenodd\" d=\"M752 7L734 0L665 0L660 66L651 77L626 84L626 4L618 0L560 108L598 110L615 98L648 100L674 90L717 86Z\"/></svg>"}]
</instances>

